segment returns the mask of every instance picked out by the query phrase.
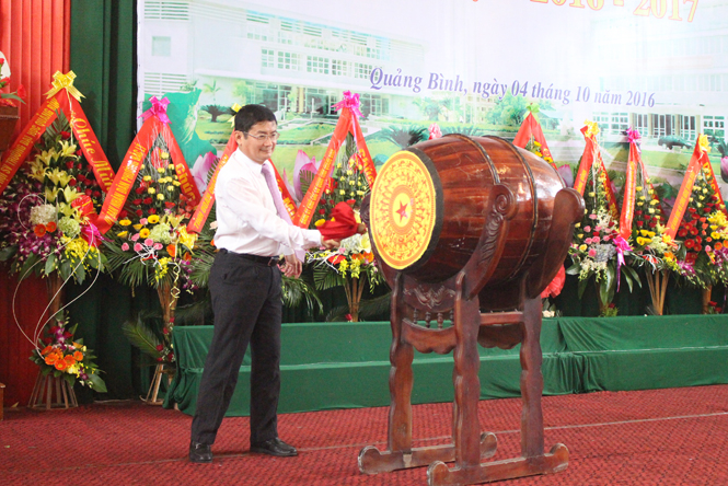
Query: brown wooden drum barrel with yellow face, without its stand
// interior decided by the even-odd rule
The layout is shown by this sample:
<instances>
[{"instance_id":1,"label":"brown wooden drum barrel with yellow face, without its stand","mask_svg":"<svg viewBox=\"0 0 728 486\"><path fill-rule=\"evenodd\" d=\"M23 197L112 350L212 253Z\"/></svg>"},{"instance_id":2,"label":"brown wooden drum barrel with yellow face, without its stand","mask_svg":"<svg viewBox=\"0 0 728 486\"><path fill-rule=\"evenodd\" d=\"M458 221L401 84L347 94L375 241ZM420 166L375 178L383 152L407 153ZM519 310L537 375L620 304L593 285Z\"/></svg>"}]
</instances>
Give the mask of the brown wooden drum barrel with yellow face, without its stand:
<instances>
[{"instance_id":1,"label":"brown wooden drum barrel with yellow face, without its stand","mask_svg":"<svg viewBox=\"0 0 728 486\"><path fill-rule=\"evenodd\" d=\"M397 152L378 174L370 202L370 231L384 275L390 284L397 271L437 284L465 269L479 279L472 286L485 289L481 303L488 306L505 284L543 261L562 188L546 162L498 137L450 135ZM499 206L515 213L494 212ZM510 218L505 246L495 269L478 273L484 253L493 251L484 238L487 227L500 223L494 217ZM553 277L562 264L563 258L542 262L538 271ZM493 306L501 304L509 303Z\"/></svg>"}]
</instances>

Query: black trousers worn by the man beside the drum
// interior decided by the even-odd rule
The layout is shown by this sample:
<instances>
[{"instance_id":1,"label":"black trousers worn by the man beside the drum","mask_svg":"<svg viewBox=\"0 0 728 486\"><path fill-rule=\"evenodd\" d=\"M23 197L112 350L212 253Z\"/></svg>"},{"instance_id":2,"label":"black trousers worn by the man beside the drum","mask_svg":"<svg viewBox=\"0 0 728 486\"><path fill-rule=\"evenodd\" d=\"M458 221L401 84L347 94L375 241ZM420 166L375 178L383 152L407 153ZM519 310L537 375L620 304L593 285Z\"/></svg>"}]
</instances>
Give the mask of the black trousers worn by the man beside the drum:
<instances>
[{"instance_id":1,"label":"black trousers worn by the man beside the drum","mask_svg":"<svg viewBox=\"0 0 728 486\"><path fill-rule=\"evenodd\" d=\"M212 444L250 343L251 443L278 437L280 270L221 251L210 270L212 343L197 395L192 440Z\"/></svg>"}]
</instances>

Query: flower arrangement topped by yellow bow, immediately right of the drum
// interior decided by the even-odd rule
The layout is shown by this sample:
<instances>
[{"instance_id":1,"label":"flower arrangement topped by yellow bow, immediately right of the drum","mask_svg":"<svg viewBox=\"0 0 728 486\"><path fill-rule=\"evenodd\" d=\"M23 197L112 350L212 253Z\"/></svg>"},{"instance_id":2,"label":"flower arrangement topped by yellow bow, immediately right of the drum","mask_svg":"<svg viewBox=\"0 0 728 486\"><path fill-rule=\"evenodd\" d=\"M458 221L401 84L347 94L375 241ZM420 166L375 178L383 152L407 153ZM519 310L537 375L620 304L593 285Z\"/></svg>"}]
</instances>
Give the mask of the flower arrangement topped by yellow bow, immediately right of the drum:
<instances>
[{"instance_id":1,"label":"flower arrangement topped by yellow bow, immediately right of the drum","mask_svg":"<svg viewBox=\"0 0 728 486\"><path fill-rule=\"evenodd\" d=\"M606 172L598 164L589 171L585 195L585 217L575 224L574 242L569 250L573 265L567 268L569 275L579 277L579 297L593 277L598 288L601 315L616 315L619 309L610 305L619 290L621 276L632 290L636 281L642 286L637 273L625 265L625 257L632 256L627 241L620 235L619 224L610 210L606 185L610 184Z\"/></svg>"}]
</instances>

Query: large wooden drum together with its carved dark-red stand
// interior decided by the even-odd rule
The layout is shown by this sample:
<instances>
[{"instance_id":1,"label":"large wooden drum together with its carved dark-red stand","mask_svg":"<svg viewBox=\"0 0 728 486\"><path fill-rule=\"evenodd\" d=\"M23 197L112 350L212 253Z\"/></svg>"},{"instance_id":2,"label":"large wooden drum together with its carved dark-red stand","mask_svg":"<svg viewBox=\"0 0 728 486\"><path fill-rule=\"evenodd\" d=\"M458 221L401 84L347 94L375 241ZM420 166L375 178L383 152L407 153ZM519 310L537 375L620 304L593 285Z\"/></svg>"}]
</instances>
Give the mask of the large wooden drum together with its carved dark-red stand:
<instances>
[{"instance_id":1,"label":"large wooden drum together with its carved dark-red stand","mask_svg":"<svg viewBox=\"0 0 728 486\"><path fill-rule=\"evenodd\" d=\"M392 287L390 429L386 451L360 452L361 472L429 464L429 485L453 485L566 468L566 447L544 453L540 293L582 216L581 196L553 167L497 137L451 135L390 158L362 208ZM520 458L482 463L497 442L479 432L478 344L521 344ZM414 349L454 350L450 445L412 447Z\"/></svg>"}]
</instances>

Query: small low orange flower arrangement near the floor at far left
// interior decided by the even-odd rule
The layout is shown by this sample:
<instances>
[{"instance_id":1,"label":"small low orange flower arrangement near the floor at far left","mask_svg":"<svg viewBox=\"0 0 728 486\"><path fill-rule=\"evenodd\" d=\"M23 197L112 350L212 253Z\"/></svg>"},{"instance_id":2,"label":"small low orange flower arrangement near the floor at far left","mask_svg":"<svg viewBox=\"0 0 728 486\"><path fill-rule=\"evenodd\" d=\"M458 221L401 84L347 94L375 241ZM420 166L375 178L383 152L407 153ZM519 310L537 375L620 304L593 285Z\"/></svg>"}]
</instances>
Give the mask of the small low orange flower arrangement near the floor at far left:
<instances>
[{"instance_id":1,"label":"small low orange flower arrangement near the floor at far left","mask_svg":"<svg viewBox=\"0 0 728 486\"><path fill-rule=\"evenodd\" d=\"M78 381L99 393L106 393L106 383L101 378L101 370L93 361L93 351L83 345L83 339L74 338L78 324L68 327L68 317L56 314L47 335L38 339L39 346L33 350L31 360L41 367L46 377L62 377L71 386Z\"/></svg>"}]
</instances>

